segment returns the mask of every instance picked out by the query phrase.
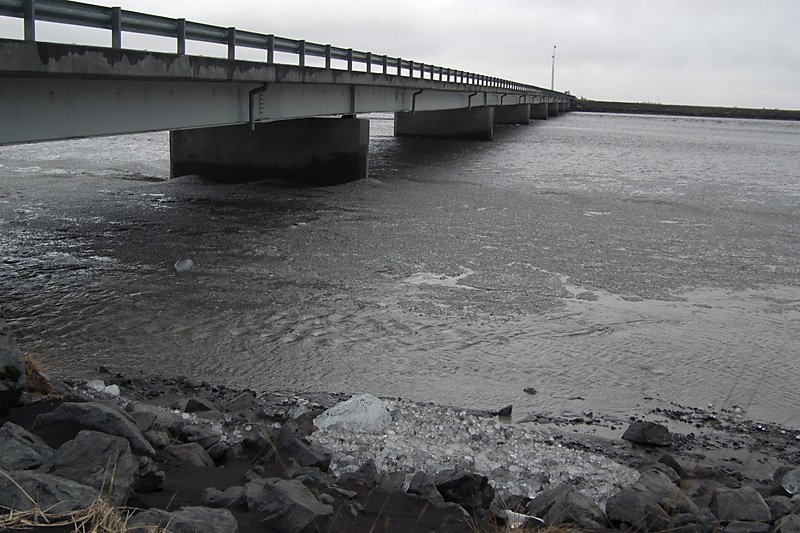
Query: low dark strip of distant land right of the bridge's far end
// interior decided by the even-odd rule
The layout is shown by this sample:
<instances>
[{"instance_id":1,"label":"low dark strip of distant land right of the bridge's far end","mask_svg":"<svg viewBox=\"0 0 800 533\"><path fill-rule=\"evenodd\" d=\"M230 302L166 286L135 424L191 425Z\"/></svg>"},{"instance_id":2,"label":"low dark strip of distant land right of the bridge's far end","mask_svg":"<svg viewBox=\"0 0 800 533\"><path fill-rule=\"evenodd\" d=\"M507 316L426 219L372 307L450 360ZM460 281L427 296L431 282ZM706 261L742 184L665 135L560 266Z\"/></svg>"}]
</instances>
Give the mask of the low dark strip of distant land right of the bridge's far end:
<instances>
[{"instance_id":1,"label":"low dark strip of distant land right of the bridge's far end","mask_svg":"<svg viewBox=\"0 0 800 533\"><path fill-rule=\"evenodd\" d=\"M800 111L786 109L749 109L743 107L711 107L636 102L603 102L578 99L572 111L590 113L630 113L638 115L677 115L689 117L751 118L766 120L800 120Z\"/></svg>"}]
</instances>

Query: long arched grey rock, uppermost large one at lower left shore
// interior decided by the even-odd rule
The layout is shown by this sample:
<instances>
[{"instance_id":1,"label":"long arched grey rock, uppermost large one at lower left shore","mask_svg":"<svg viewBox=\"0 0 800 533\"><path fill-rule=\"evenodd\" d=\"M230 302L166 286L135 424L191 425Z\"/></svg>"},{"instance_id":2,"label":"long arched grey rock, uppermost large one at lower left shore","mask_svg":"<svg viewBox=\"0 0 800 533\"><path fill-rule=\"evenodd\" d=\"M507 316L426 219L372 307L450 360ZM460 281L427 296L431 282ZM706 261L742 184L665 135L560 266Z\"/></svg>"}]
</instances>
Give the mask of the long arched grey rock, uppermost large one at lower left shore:
<instances>
[{"instance_id":1,"label":"long arched grey rock, uppermost large one at lower left shore","mask_svg":"<svg viewBox=\"0 0 800 533\"><path fill-rule=\"evenodd\" d=\"M101 403L62 403L55 410L37 416L33 427L37 428L58 422L69 422L83 426L85 429L127 439L134 453L150 457L156 454L131 418Z\"/></svg>"}]
</instances>

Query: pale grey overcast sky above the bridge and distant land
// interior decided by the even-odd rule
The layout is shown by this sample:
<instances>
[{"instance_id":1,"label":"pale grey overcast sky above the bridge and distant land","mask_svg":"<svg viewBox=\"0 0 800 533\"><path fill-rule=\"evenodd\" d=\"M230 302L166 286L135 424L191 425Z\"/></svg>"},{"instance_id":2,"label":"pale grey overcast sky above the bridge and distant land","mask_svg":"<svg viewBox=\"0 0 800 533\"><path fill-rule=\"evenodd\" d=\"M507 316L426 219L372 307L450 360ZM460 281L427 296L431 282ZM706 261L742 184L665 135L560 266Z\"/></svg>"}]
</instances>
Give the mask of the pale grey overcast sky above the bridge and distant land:
<instances>
[{"instance_id":1,"label":"pale grey overcast sky above the bridge and distant land","mask_svg":"<svg viewBox=\"0 0 800 533\"><path fill-rule=\"evenodd\" d=\"M800 0L89 3L352 47L542 87L550 86L556 45L555 89L576 96L800 109ZM17 37L15 32L21 32L19 21L0 20L0 36ZM105 45L108 34L98 30L90 39ZM85 40L48 24L37 25L37 38ZM140 39L124 34L123 46L174 48Z\"/></svg>"}]
</instances>

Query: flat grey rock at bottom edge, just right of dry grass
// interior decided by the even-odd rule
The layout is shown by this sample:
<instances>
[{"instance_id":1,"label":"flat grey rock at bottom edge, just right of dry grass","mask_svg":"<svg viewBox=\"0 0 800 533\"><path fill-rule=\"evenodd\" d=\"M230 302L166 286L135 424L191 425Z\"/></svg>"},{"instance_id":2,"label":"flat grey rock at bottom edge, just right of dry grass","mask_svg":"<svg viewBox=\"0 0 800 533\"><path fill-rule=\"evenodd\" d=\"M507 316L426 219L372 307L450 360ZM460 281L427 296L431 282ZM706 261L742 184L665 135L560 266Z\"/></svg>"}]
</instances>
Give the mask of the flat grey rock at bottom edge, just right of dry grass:
<instances>
[{"instance_id":1,"label":"flat grey rock at bottom edge, just right of dry grass","mask_svg":"<svg viewBox=\"0 0 800 533\"><path fill-rule=\"evenodd\" d=\"M181 507L172 513L149 509L135 514L127 525L130 531L166 527L170 533L236 533L239 530L236 518L229 510L208 507Z\"/></svg>"}]
</instances>

